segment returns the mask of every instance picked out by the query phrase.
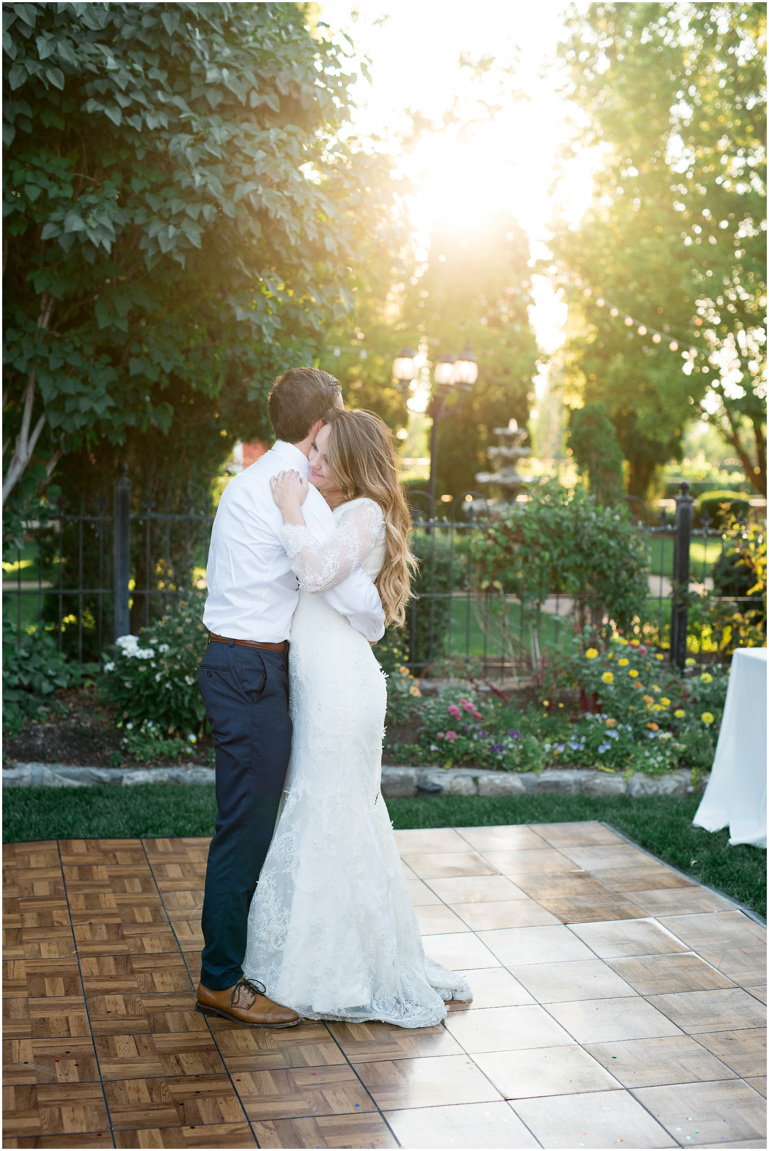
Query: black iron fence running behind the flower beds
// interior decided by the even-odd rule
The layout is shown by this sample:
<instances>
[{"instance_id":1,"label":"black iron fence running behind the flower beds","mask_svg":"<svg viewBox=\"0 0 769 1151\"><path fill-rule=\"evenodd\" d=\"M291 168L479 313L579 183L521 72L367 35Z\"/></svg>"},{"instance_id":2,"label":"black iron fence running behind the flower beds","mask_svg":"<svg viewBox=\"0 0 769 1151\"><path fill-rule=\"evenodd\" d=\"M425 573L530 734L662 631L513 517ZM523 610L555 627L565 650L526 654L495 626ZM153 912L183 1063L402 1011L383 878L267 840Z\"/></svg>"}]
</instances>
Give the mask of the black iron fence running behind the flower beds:
<instances>
[{"instance_id":1,"label":"black iron fence running behind the flower beds","mask_svg":"<svg viewBox=\"0 0 769 1151\"><path fill-rule=\"evenodd\" d=\"M578 604L557 587L533 609L506 596L501 612L500 597L492 609L489 597L477 594L471 541L485 531L483 496L462 494L451 519L436 516L429 493L412 491L409 498L421 572L402 647L414 671L469 657L484 674L505 679L538 666L545 648L562 646ZM740 528L712 527L707 519L695 528L692 505L683 483L675 519L669 523L663 511L660 523L649 525L645 505L631 501L652 559L645 618L647 625L656 622L659 639L664 637L679 665L692 626L692 584L707 588L712 602L740 610L756 604L743 573L726 562ZM208 493L190 485L163 509L151 501L141 510L131 506L131 480L122 465L111 509L87 511L76 495L61 501L48 524L28 525L24 551L6 564L11 570L3 571L2 586L3 612L20 633L43 624L69 657L99 660L117 637L138 633L175 599L205 587L214 521Z\"/></svg>"}]
</instances>

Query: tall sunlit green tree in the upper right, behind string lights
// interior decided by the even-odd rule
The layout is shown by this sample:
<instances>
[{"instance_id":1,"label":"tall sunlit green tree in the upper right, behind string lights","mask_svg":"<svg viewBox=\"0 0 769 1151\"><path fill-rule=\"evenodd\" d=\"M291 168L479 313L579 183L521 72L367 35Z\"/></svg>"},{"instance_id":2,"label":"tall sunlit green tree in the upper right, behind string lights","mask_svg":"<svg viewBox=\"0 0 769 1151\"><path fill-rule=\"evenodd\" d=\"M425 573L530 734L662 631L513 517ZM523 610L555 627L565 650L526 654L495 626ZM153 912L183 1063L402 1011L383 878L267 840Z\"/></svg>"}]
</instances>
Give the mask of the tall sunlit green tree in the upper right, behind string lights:
<instances>
[{"instance_id":1,"label":"tall sunlit green tree in the upper right, behind string lights","mask_svg":"<svg viewBox=\"0 0 769 1151\"><path fill-rule=\"evenodd\" d=\"M764 39L758 3L571 12L569 94L587 116L575 147L600 147L602 163L583 223L560 223L551 246L582 328L572 372L607 404L638 495L694 416L766 493ZM601 295L637 323L597 312ZM639 338L639 322L670 340ZM674 341L701 351L682 365Z\"/></svg>"}]
</instances>

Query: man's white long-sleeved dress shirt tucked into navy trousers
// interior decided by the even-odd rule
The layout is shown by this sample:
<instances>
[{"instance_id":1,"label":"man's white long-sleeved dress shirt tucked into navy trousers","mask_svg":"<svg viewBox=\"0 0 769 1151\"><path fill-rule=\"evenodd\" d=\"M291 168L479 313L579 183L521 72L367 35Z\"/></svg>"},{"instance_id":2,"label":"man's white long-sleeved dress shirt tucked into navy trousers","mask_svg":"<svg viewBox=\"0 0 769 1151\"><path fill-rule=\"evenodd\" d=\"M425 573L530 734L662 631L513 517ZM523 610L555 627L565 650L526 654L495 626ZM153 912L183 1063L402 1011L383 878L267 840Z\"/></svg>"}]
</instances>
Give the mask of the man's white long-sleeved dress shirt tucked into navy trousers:
<instances>
[{"instance_id":1,"label":"man's white long-sleeved dress shirt tucked into navy trousers","mask_svg":"<svg viewBox=\"0 0 769 1151\"><path fill-rule=\"evenodd\" d=\"M289 639L299 587L280 534L283 516L270 490L270 477L286 468L309 475L307 457L278 440L222 494L208 550L203 612L205 626L217 635L262 643ZM312 485L302 512L315 539L324 543L336 527L333 512ZM362 569L322 594L367 640L382 639L382 601Z\"/></svg>"}]
</instances>

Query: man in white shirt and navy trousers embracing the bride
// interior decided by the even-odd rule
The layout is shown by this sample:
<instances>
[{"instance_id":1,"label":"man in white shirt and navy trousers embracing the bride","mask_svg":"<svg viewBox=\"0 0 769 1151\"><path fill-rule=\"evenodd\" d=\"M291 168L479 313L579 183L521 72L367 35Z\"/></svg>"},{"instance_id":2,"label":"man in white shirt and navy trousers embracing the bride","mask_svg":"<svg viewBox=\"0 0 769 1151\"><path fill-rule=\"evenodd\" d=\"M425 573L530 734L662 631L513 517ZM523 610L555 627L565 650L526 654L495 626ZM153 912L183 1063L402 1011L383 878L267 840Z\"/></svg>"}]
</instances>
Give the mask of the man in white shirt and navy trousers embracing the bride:
<instances>
[{"instance_id":1,"label":"man in white shirt and navy trousers embracing the bride","mask_svg":"<svg viewBox=\"0 0 769 1151\"><path fill-rule=\"evenodd\" d=\"M299 1022L295 1012L245 980L241 967L248 908L291 754L287 641L299 592L269 481L287 468L309 477L307 457L323 417L341 406L339 381L326 372L291 368L278 376L269 396L276 443L224 489L208 552L209 637L198 680L216 740L218 810L206 871L197 1009L248 1027ZM333 514L312 485L302 512L318 542L331 535ZM367 640L382 638L379 595L360 567L323 595Z\"/></svg>"}]
</instances>

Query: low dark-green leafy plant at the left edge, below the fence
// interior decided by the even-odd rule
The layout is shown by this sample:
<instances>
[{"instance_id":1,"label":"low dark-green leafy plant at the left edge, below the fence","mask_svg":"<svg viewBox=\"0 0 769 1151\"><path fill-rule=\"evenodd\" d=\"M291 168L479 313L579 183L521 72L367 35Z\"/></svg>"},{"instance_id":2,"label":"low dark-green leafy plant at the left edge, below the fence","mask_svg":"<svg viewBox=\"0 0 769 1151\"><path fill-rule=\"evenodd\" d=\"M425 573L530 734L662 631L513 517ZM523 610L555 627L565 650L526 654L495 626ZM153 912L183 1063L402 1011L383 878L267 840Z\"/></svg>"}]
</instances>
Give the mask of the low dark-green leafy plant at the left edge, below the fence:
<instances>
[{"instance_id":1,"label":"low dark-green leafy plant at the left edge, below the fence","mask_svg":"<svg viewBox=\"0 0 769 1151\"><path fill-rule=\"evenodd\" d=\"M41 628L16 631L2 620L2 730L16 735L25 721L52 709L57 687L79 687L84 676L95 676L98 663L78 665L56 649L56 641Z\"/></svg>"}]
</instances>

